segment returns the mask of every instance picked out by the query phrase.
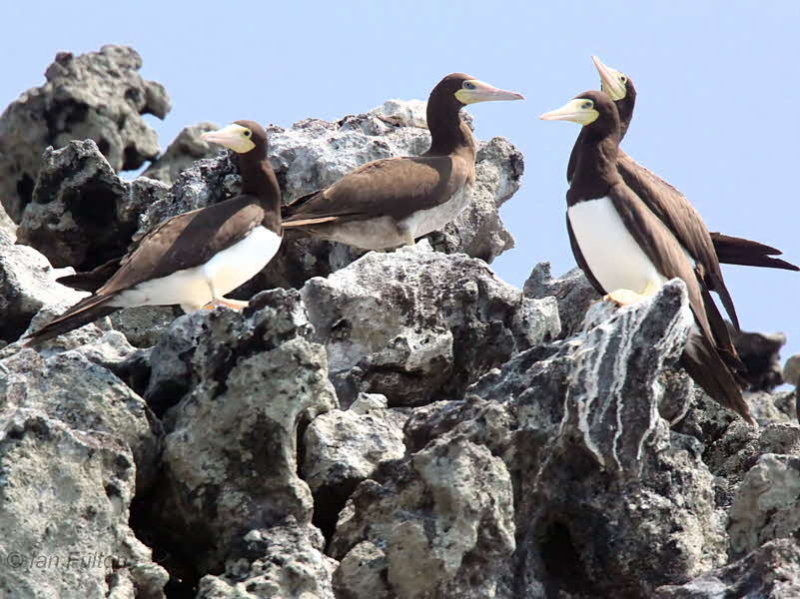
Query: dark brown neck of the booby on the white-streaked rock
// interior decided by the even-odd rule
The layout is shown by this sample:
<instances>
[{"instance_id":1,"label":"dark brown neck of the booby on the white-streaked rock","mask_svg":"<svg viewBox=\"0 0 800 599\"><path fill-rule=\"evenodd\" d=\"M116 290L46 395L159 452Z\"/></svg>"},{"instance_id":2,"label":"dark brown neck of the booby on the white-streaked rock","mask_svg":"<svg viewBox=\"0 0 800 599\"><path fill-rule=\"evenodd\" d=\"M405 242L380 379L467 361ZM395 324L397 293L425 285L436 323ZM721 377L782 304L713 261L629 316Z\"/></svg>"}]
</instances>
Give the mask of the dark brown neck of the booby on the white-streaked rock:
<instances>
[{"instance_id":1,"label":"dark brown neck of the booby on the white-streaked rock","mask_svg":"<svg viewBox=\"0 0 800 599\"><path fill-rule=\"evenodd\" d=\"M604 197L609 188L621 180L617 171L619 132L595 135L590 129L581 131L575 143L575 172L570 183L568 202Z\"/></svg>"}]
</instances>

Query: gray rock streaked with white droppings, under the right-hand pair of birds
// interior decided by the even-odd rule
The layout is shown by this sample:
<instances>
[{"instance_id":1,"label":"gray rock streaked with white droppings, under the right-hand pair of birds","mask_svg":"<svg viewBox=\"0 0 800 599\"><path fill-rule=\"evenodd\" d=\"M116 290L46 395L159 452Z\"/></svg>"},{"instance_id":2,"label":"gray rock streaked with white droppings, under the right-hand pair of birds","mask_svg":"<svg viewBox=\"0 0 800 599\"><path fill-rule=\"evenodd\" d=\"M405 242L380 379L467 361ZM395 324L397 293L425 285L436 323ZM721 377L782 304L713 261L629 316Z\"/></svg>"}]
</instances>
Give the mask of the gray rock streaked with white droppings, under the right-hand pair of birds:
<instances>
[{"instance_id":1,"label":"gray rock streaked with white droppings, under the right-hand pair of birds","mask_svg":"<svg viewBox=\"0 0 800 599\"><path fill-rule=\"evenodd\" d=\"M636 306L597 304L584 333L521 352L465 400L411 417L409 450L468 439L511 474L517 549L498 596L650 596L724 563L701 446L658 416L660 372L691 325L677 281Z\"/></svg>"}]
</instances>

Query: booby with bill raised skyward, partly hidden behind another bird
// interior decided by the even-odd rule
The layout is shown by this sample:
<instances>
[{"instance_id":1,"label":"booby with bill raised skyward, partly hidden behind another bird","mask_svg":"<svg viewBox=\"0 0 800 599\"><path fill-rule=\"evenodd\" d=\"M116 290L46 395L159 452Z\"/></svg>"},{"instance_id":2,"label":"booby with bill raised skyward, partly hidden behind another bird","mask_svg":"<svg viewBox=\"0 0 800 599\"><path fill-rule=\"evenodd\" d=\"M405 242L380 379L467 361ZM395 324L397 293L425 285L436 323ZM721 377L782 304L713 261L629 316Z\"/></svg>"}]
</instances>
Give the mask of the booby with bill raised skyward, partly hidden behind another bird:
<instances>
[{"instance_id":1,"label":"booby with bill raised skyward, partly hidden behind another bird","mask_svg":"<svg viewBox=\"0 0 800 599\"><path fill-rule=\"evenodd\" d=\"M625 137L636 105L636 87L633 80L624 73L603 64L592 56L595 68L600 74L601 89L608 94L617 106L620 117L620 139ZM567 166L567 180L572 177L575 165L575 144ZM771 246L740 237L709 232L700 214L679 190L661 179L619 150L617 168L625 183L650 207L650 209L670 228L678 241L696 261L706 285L716 291L725 310L738 329L733 301L725 286L720 263L741 264L800 270L794 264L775 258L780 250Z\"/></svg>"}]
</instances>

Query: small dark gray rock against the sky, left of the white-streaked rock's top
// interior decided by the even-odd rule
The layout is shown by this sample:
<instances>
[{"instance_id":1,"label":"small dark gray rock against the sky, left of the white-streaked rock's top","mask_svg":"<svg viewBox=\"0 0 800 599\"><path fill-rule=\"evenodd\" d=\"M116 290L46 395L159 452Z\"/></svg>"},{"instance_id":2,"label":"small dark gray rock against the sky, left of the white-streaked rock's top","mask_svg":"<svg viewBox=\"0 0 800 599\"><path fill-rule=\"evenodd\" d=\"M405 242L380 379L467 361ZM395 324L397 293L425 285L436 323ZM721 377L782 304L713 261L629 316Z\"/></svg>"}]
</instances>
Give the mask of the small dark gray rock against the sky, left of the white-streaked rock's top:
<instances>
[{"instance_id":1,"label":"small dark gray rock against the sky, left of the white-streaked rock's top","mask_svg":"<svg viewBox=\"0 0 800 599\"><path fill-rule=\"evenodd\" d=\"M569 337L580 331L583 316L592 302L600 299L597 291L580 268L573 268L558 279L550 274L550 263L540 262L533 267L523 286L525 297L543 299L555 297L561 319L561 336Z\"/></svg>"}]
</instances>

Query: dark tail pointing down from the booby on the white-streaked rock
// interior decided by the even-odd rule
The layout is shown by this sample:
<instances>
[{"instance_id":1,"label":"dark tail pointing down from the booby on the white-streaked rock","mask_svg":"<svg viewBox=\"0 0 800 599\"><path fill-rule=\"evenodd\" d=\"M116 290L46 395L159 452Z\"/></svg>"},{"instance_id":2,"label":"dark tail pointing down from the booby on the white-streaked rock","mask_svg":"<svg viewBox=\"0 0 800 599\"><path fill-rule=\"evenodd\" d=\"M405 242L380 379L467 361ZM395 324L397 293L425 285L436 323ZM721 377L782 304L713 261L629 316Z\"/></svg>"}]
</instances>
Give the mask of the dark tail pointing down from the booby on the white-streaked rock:
<instances>
[{"instance_id":1,"label":"dark tail pointing down from the booby on the white-streaked rock","mask_svg":"<svg viewBox=\"0 0 800 599\"><path fill-rule=\"evenodd\" d=\"M755 424L742 397L736 375L722 360L715 345L699 330L689 333L681 364L689 376L717 403L730 408L749 424Z\"/></svg>"}]
</instances>

